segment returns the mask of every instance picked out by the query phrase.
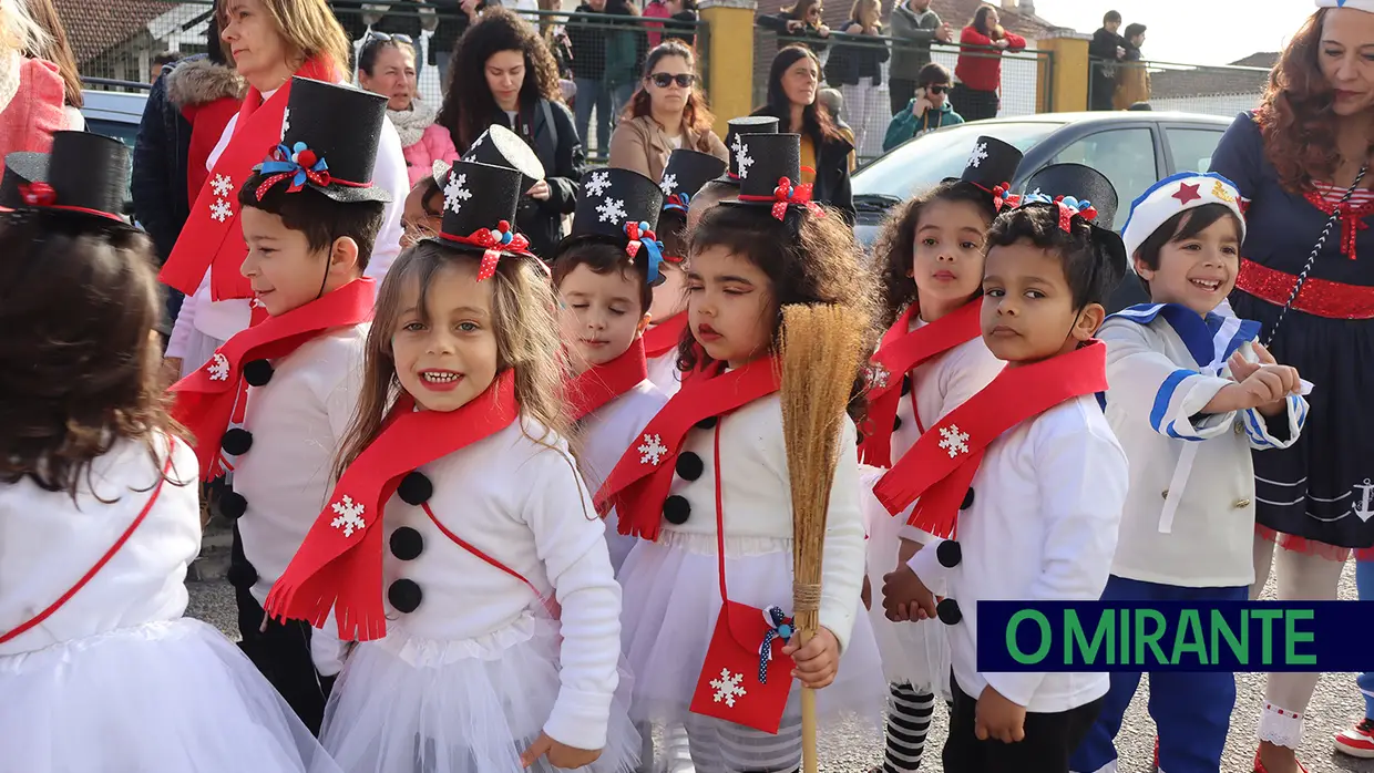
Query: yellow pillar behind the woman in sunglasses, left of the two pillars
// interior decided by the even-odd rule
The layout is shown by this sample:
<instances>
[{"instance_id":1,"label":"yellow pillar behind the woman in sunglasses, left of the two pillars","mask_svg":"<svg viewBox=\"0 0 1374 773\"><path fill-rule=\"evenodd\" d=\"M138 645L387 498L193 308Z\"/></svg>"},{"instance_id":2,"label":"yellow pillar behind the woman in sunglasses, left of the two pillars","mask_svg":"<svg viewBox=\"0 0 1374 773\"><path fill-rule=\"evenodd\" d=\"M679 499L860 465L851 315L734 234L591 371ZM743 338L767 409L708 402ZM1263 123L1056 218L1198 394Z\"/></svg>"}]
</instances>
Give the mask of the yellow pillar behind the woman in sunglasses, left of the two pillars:
<instances>
[{"instance_id":1,"label":"yellow pillar behind the woman in sunglasses, left of the two pillars","mask_svg":"<svg viewBox=\"0 0 1374 773\"><path fill-rule=\"evenodd\" d=\"M731 118L753 110L754 0L702 0L701 18L710 30L705 52L706 92L716 114L716 133L725 136Z\"/></svg>"}]
</instances>

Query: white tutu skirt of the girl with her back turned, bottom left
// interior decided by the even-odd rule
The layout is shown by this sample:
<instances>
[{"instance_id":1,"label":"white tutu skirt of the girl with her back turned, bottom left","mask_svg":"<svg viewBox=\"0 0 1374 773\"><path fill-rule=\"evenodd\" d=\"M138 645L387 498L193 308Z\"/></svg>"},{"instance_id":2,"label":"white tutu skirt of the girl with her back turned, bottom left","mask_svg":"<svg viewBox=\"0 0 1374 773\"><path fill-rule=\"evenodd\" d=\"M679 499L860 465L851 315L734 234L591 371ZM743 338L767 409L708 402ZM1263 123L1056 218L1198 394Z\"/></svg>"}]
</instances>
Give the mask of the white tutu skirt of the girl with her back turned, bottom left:
<instances>
[{"instance_id":1,"label":"white tutu skirt of the girl with her back turned, bottom left","mask_svg":"<svg viewBox=\"0 0 1374 773\"><path fill-rule=\"evenodd\" d=\"M253 663L198 621L0 656L3 773L338 772Z\"/></svg>"}]
</instances>

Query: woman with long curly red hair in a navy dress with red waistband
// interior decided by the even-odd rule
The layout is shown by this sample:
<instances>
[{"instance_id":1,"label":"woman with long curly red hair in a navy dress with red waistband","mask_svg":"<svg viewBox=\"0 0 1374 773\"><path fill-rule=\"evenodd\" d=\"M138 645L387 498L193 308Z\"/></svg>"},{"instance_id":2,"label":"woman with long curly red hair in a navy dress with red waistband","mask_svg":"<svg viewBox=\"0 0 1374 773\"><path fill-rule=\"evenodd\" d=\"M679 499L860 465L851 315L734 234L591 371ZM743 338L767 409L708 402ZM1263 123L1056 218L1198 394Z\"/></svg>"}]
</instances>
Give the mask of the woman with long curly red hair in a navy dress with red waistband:
<instances>
[{"instance_id":1,"label":"woman with long curly red hair in a navy dress with red waistband","mask_svg":"<svg viewBox=\"0 0 1374 773\"><path fill-rule=\"evenodd\" d=\"M1275 544L1285 600L1336 599L1351 552L1374 545L1374 412L1366 406L1374 389L1371 49L1374 0L1318 0L1260 107L1235 119L1212 157L1212 172L1234 180L1249 207L1235 313L1260 321L1274 356L1316 384L1303 437L1254 454L1252 596L1268 579ZM1360 585L1362 599L1374 599L1374 582ZM1316 680L1270 674L1256 772L1304 770L1294 754ZM1338 747L1374 740L1370 726L1366 719L1340 733ZM1367 748L1374 755L1374 743Z\"/></svg>"}]
</instances>

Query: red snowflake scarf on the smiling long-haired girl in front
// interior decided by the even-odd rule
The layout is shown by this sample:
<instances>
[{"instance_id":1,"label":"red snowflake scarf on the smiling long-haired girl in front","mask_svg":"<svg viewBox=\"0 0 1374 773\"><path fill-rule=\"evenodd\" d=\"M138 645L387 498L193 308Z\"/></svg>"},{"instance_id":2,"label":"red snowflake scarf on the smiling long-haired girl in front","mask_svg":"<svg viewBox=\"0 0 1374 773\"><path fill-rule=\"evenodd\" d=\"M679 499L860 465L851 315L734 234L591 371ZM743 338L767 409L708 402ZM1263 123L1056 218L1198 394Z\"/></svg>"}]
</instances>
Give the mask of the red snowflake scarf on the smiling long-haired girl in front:
<instances>
[{"instance_id":1,"label":"red snowflake scarf on the smiling long-haired girl in front","mask_svg":"<svg viewBox=\"0 0 1374 773\"><path fill-rule=\"evenodd\" d=\"M322 627L334 610L345 641L386 636L383 530L378 527L386 501L418 467L495 435L518 417L510 369L458 411L415 411L415 400L403 394L382 432L334 486L330 504L272 586L264 604L268 614Z\"/></svg>"}]
</instances>

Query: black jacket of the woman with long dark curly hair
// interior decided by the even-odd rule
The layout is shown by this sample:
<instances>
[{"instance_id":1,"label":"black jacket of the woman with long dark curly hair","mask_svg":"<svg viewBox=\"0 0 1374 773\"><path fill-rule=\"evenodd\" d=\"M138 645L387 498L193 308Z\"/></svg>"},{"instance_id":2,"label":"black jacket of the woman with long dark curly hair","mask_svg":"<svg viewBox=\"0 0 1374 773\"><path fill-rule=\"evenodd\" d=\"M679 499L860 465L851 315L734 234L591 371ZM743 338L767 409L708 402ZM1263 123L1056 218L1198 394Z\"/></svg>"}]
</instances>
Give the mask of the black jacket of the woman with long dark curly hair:
<instances>
[{"instance_id":1,"label":"black jacket of the woman with long dark curly hair","mask_svg":"<svg viewBox=\"0 0 1374 773\"><path fill-rule=\"evenodd\" d=\"M492 115L492 124L514 129L525 137L544 165L550 196L547 200L521 196L515 224L529 239L530 250L545 262L552 262L554 250L563 238L563 216L577 209L577 189L583 172L587 170L587 157L577 139L573 114L562 102L540 99L521 106L519 126L511 126L502 110ZM453 146L462 148L456 136Z\"/></svg>"}]
</instances>

